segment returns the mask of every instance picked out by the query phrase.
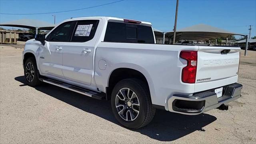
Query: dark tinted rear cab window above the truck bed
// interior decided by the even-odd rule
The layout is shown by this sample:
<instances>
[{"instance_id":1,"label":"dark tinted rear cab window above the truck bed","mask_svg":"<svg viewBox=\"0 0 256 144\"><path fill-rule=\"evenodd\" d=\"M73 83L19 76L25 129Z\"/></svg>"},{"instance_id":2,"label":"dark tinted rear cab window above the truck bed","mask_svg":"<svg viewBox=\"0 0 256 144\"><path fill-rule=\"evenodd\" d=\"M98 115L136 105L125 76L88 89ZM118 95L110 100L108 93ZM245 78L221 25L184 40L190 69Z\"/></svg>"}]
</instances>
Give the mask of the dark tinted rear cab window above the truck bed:
<instances>
[{"instance_id":1,"label":"dark tinted rear cab window above the truck bed","mask_svg":"<svg viewBox=\"0 0 256 144\"><path fill-rule=\"evenodd\" d=\"M104 41L154 44L154 35L150 26L108 22Z\"/></svg>"}]
</instances>

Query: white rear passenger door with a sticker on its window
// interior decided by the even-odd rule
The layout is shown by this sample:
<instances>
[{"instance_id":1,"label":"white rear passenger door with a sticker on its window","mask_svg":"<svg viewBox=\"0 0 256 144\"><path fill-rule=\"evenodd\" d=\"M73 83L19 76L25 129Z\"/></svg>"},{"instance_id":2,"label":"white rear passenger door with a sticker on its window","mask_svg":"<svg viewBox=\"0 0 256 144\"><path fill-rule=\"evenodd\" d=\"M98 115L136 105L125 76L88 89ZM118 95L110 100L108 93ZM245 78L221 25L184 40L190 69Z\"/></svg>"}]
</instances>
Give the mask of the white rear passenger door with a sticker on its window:
<instances>
[{"instance_id":1,"label":"white rear passenger door with a sticker on its window","mask_svg":"<svg viewBox=\"0 0 256 144\"><path fill-rule=\"evenodd\" d=\"M62 72L67 80L90 85L100 20L78 20L71 42L64 42Z\"/></svg>"}]
</instances>

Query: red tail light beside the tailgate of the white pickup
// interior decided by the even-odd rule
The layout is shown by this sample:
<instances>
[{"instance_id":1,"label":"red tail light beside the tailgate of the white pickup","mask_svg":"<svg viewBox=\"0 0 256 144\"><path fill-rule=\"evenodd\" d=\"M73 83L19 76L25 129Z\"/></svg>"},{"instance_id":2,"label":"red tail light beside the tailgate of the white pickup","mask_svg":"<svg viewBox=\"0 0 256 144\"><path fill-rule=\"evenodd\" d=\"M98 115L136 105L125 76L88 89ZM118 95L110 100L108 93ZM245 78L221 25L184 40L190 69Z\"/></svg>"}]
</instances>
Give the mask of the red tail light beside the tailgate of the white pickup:
<instances>
[{"instance_id":1,"label":"red tail light beside the tailgate of the white pickup","mask_svg":"<svg viewBox=\"0 0 256 144\"><path fill-rule=\"evenodd\" d=\"M181 80L184 83L196 82L197 51L181 51L180 58L187 60L187 66L182 69Z\"/></svg>"}]
</instances>

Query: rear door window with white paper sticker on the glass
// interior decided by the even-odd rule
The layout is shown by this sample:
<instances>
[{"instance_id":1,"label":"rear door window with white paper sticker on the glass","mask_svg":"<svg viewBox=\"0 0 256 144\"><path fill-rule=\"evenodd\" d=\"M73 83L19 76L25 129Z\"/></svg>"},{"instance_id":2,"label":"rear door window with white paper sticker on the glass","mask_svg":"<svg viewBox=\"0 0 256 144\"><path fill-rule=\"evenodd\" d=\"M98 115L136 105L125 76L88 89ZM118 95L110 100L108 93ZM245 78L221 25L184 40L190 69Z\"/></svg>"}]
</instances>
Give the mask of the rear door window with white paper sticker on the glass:
<instances>
[{"instance_id":1,"label":"rear door window with white paper sticker on the glass","mask_svg":"<svg viewBox=\"0 0 256 144\"><path fill-rule=\"evenodd\" d=\"M92 40L98 27L99 20L78 21L71 42L87 42Z\"/></svg>"}]
</instances>

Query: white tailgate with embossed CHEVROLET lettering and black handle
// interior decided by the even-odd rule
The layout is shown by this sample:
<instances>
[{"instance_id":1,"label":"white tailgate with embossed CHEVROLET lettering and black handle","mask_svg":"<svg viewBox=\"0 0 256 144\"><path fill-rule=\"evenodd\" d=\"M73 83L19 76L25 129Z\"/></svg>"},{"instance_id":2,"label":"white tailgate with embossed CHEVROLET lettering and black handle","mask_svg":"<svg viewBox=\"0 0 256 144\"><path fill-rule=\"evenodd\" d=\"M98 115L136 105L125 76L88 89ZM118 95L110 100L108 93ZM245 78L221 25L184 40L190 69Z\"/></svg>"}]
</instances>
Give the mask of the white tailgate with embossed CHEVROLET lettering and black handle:
<instances>
[{"instance_id":1,"label":"white tailgate with embossed CHEVROLET lettering and black handle","mask_svg":"<svg viewBox=\"0 0 256 144\"><path fill-rule=\"evenodd\" d=\"M195 92L237 82L239 47L199 46Z\"/></svg>"}]
</instances>

